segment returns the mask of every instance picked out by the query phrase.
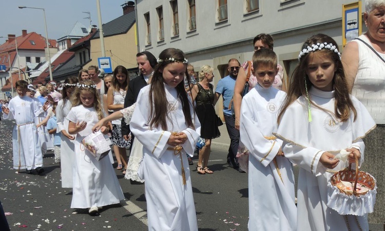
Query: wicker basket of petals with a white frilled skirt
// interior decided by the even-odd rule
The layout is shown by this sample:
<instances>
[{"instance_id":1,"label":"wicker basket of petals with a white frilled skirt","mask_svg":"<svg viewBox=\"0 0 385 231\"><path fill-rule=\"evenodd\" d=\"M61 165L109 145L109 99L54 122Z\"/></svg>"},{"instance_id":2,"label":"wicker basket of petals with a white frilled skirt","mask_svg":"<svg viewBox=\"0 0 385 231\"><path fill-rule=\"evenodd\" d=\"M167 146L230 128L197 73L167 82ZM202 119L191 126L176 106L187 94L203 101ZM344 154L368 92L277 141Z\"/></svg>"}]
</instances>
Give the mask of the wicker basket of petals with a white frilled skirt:
<instances>
[{"instance_id":1,"label":"wicker basket of petals with a white frilled skirt","mask_svg":"<svg viewBox=\"0 0 385 231\"><path fill-rule=\"evenodd\" d=\"M328 207L341 215L364 216L372 213L376 201L376 180L367 172L356 169L352 164L336 172L328 182Z\"/></svg>"}]
</instances>

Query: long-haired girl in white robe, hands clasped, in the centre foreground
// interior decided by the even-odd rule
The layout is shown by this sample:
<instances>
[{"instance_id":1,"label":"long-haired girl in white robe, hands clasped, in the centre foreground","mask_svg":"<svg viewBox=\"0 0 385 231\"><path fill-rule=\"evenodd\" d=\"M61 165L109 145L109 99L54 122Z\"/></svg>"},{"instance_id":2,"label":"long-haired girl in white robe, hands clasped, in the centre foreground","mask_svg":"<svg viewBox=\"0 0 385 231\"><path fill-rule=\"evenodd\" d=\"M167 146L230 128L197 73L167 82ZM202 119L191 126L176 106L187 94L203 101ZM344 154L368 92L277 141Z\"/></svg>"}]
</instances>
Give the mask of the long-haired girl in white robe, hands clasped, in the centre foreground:
<instances>
[{"instance_id":1,"label":"long-haired girl in white robe, hands clasped, in the centre foreground","mask_svg":"<svg viewBox=\"0 0 385 231\"><path fill-rule=\"evenodd\" d=\"M151 85L140 91L130 128L143 144L149 230L198 230L186 153L192 157L200 124L184 90L181 50L161 52Z\"/></svg>"}]
</instances>

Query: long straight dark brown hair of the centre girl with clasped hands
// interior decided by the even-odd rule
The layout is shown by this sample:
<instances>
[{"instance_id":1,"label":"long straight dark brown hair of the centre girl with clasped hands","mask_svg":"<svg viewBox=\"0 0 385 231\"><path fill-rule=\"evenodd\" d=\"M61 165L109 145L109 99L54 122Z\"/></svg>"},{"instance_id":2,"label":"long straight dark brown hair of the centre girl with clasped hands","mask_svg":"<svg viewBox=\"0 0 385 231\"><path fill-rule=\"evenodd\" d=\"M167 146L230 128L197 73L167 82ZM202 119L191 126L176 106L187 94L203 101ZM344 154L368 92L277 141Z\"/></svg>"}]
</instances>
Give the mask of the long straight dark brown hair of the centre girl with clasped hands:
<instances>
[{"instance_id":1,"label":"long straight dark brown hair of the centre girl with clasped hands","mask_svg":"<svg viewBox=\"0 0 385 231\"><path fill-rule=\"evenodd\" d=\"M172 61L168 60L170 58L174 58L174 60ZM166 92L164 90L163 74L160 72L160 70L170 63L173 63L173 62L184 63L187 60L185 59L183 51L175 48L167 48L163 50L159 54L159 59L163 61L158 63L154 69L154 73L151 79L150 92L149 92L149 105L151 105L149 125L150 127L157 127L160 125L163 130L167 130L166 119L170 119L170 118L168 117L168 111L167 111L168 101L166 98ZM186 63L186 67L187 67L187 63ZM189 76L187 72L187 68L185 72L186 72L185 75ZM187 78L187 80L189 81L189 78ZM191 112L190 106L192 106L192 110L194 110L194 105L188 100L188 95L186 90L184 89L183 81L181 81L175 88L177 89L179 99L181 100L183 105L182 110L183 110L186 124L188 127L195 129L194 123L192 122L192 119L191 119L191 113L190 113Z\"/></svg>"}]
</instances>

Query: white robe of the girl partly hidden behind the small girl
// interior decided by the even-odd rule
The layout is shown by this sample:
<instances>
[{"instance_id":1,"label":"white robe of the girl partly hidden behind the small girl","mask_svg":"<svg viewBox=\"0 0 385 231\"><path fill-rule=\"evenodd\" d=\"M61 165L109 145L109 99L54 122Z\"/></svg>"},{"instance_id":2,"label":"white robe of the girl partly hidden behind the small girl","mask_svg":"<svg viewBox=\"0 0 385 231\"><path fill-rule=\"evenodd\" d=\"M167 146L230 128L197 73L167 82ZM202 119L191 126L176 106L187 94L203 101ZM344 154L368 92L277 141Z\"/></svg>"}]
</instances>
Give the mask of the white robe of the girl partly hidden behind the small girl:
<instances>
[{"instance_id":1,"label":"white robe of the girl partly hidden behind the small girl","mask_svg":"<svg viewBox=\"0 0 385 231\"><path fill-rule=\"evenodd\" d=\"M72 104L71 101L66 99L65 104L64 101L61 100L57 103L56 106L56 122L57 122L57 131L61 132L60 138L60 149L61 149L61 157L60 157L60 165L62 170L62 188L72 188L73 185L73 166L74 166L74 158L75 158L75 141L68 139L63 134L63 130L68 133L68 119L67 114L69 113Z\"/></svg>"}]
</instances>

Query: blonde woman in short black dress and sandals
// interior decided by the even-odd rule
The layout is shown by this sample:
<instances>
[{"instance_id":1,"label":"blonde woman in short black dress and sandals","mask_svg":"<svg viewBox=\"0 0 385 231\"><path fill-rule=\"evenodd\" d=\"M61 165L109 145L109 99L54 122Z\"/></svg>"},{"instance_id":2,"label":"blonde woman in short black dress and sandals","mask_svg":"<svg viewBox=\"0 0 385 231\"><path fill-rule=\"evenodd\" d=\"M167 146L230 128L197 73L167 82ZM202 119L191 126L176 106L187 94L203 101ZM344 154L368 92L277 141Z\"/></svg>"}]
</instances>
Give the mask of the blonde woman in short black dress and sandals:
<instances>
[{"instance_id":1,"label":"blonde woman in short black dress and sandals","mask_svg":"<svg viewBox=\"0 0 385 231\"><path fill-rule=\"evenodd\" d=\"M221 136L218 129L217 114L214 109L213 82L214 68L203 65L199 72L199 83L191 90L192 100L195 101L195 111L201 123L201 138L205 139L206 145L199 151L197 171L199 174L213 174L207 167L210 157L211 139Z\"/></svg>"}]
</instances>

